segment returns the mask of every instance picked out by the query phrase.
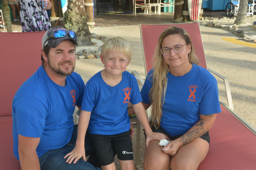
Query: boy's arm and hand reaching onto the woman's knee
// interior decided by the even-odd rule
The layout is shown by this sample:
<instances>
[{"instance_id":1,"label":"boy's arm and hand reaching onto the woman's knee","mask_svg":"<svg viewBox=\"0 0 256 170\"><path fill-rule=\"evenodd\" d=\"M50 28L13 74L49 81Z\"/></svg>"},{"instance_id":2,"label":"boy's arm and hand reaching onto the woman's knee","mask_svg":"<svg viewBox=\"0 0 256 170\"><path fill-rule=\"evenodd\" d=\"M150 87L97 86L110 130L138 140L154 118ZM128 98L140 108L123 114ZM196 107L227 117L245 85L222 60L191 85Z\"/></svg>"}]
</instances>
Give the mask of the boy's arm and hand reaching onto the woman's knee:
<instances>
[{"instance_id":1,"label":"boy's arm and hand reaching onto the woman's knee","mask_svg":"<svg viewBox=\"0 0 256 170\"><path fill-rule=\"evenodd\" d=\"M152 132L152 129L150 128L149 123L148 123L148 117L146 115L145 106L142 105L142 102L140 102L138 104L134 104L133 109L134 109L141 125L143 126L143 128L145 130L145 133L146 133L146 147L148 147L148 143L151 140L160 141L161 139L166 139L166 137L163 133L154 133L154 132Z\"/></svg>"}]
</instances>

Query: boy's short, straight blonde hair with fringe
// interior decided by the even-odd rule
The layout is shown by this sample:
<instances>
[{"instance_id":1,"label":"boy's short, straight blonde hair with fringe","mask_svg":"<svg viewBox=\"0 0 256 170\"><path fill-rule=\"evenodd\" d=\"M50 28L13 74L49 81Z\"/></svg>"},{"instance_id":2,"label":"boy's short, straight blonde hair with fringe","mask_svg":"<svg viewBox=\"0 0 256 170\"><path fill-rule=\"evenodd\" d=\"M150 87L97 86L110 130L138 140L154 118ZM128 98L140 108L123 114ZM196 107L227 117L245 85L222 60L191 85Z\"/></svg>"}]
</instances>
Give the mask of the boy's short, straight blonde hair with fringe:
<instances>
[{"instance_id":1,"label":"boy's short, straight blonde hair with fringe","mask_svg":"<svg viewBox=\"0 0 256 170\"><path fill-rule=\"evenodd\" d=\"M103 45L101 49L101 55L104 58L107 51L113 49L114 51L122 52L123 54L128 56L128 60L132 59L132 47L130 43L121 37L113 37L108 39Z\"/></svg>"}]
</instances>

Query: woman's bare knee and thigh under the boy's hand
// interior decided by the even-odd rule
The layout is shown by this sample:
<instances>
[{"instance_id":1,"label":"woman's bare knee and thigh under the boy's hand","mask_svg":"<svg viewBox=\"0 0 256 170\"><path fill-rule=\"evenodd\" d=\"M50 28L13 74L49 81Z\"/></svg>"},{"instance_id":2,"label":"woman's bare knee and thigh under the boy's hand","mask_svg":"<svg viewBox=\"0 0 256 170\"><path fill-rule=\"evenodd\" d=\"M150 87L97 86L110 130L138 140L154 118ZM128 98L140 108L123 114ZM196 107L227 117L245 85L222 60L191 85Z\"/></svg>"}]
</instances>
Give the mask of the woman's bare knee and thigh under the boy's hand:
<instances>
[{"instance_id":1,"label":"woman's bare knee and thigh under the boy's hand","mask_svg":"<svg viewBox=\"0 0 256 170\"><path fill-rule=\"evenodd\" d=\"M170 141L170 139L167 139ZM144 170L167 170L170 167L171 156L162 152L158 145L160 141L153 140L149 142L144 152Z\"/></svg>"}]
</instances>

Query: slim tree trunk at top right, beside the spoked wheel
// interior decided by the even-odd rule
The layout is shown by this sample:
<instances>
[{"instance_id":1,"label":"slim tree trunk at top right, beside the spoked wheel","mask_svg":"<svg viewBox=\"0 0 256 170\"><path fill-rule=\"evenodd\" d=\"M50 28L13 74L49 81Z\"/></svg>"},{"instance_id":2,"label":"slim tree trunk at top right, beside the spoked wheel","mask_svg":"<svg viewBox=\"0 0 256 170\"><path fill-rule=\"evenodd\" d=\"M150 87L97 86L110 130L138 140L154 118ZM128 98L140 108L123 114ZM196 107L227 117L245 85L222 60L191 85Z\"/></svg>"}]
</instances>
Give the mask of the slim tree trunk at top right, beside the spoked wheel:
<instances>
[{"instance_id":1,"label":"slim tree trunk at top right, beside the spoked wheel","mask_svg":"<svg viewBox=\"0 0 256 170\"><path fill-rule=\"evenodd\" d=\"M246 21L247 9L248 9L248 0L240 0L236 20L234 23L236 23L237 25L247 23Z\"/></svg>"}]
</instances>

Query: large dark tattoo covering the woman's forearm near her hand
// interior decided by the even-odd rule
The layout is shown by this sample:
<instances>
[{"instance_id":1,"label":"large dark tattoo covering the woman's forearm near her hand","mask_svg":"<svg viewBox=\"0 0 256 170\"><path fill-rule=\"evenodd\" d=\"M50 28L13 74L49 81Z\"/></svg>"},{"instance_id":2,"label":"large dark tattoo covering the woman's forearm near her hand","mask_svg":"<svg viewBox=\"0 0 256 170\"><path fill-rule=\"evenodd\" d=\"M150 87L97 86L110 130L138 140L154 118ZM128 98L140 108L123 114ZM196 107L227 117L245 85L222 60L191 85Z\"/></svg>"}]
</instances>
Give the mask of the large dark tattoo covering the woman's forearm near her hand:
<instances>
[{"instance_id":1,"label":"large dark tattoo covering the woman's forearm near her hand","mask_svg":"<svg viewBox=\"0 0 256 170\"><path fill-rule=\"evenodd\" d=\"M180 142L183 142L183 145L186 145L187 143L190 143L194 139L202 136L207 131L204 129L204 121L200 121L199 124L196 124L198 126L197 129L194 129L192 131L188 131L182 136L182 140Z\"/></svg>"}]
</instances>

